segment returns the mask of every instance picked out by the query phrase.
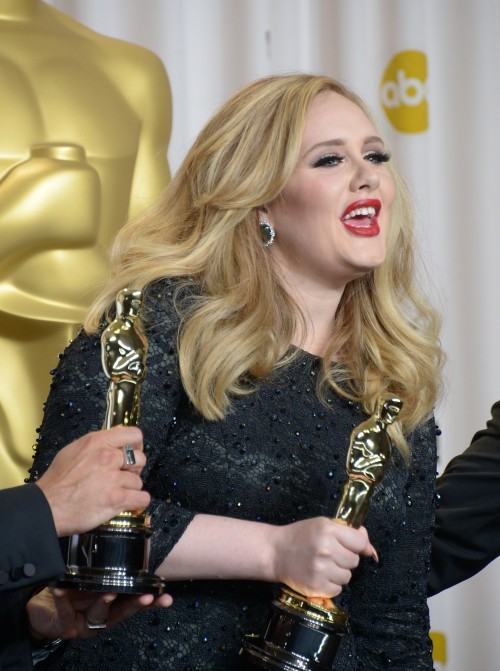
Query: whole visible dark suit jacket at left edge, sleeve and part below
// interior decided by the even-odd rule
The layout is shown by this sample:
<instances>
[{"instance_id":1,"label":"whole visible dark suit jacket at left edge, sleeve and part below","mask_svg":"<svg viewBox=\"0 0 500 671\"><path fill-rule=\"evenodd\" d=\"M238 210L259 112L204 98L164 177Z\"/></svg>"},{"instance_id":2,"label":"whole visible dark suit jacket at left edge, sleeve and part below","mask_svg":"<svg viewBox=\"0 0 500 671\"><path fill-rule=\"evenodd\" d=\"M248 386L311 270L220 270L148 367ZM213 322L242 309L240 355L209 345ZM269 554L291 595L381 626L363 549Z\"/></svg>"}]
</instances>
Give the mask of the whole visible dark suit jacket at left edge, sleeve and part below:
<instances>
[{"instance_id":1,"label":"whole visible dark suit jacket at left edge, sleeve and part below","mask_svg":"<svg viewBox=\"0 0 500 671\"><path fill-rule=\"evenodd\" d=\"M0 491L0 669L32 668L27 592L64 573L49 504L37 485Z\"/></svg>"}]
</instances>

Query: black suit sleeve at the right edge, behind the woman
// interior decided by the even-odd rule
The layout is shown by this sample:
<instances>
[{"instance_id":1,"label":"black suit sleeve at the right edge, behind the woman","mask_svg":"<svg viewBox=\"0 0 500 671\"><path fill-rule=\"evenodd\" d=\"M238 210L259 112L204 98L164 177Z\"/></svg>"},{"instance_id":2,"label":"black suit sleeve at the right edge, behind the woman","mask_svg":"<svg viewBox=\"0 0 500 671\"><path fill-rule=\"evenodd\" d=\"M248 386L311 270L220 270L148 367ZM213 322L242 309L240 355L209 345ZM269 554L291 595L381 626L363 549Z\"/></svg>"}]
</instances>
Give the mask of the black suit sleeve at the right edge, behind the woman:
<instances>
[{"instance_id":1,"label":"black suit sleeve at the right edge, behind the woman","mask_svg":"<svg viewBox=\"0 0 500 671\"><path fill-rule=\"evenodd\" d=\"M437 481L429 596L472 577L500 554L500 401L485 429Z\"/></svg>"}]
</instances>

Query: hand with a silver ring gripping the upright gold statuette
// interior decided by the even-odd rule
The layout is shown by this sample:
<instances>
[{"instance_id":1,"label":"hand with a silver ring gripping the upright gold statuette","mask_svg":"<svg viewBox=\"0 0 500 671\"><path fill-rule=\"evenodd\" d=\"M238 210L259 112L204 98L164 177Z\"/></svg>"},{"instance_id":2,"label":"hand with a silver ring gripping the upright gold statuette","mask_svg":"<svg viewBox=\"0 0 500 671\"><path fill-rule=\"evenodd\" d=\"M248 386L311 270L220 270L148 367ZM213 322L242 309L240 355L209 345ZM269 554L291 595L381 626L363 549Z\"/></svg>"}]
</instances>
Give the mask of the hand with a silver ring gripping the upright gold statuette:
<instances>
[{"instance_id":1,"label":"hand with a silver ring gripping the upright gold statuette","mask_svg":"<svg viewBox=\"0 0 500 671\"><path fill-rule=\"evenodd\" d=\"M135 465L125 462L132 445ZM140 511L150 496L139 476L146 463L134 426L89 433L63 448L36 483L49 502L58 536L94 529L124 511Z\"/></svg>"}]
</instances>

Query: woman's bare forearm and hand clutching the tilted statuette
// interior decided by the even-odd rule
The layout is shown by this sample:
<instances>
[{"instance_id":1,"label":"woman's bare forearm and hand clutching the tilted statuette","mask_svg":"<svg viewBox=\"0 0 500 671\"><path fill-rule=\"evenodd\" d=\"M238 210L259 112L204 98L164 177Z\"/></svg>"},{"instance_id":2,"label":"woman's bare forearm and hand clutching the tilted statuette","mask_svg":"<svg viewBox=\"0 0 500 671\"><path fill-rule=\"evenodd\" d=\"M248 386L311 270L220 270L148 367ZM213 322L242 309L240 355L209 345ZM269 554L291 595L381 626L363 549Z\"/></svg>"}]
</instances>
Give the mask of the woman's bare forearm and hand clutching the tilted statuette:
<instances>
[{"instance_id":1,"label":"woman's bare forearm and hand clutching the tilted statuette","mask_svg":"<svg viewBox=\"0 0 500 671\"><path fill-rule=\"evenodd\" d=\"M377 553L363 527L327 517L283 526L196 515L155 573L166 580L263 580L307 597L340 594L360 555Z\"/></svg>"}]
</instances>

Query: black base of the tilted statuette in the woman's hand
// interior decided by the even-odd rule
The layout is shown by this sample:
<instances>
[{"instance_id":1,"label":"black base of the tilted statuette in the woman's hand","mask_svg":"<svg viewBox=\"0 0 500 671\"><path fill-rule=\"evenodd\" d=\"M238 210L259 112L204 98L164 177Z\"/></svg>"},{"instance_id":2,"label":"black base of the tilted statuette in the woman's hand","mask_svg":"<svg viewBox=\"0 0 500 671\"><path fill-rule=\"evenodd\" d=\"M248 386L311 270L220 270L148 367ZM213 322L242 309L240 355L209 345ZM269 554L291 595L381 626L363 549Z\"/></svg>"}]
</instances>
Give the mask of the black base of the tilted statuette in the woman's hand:
<instances>
[{"instance_id":1,"label":"black base of the tilted statuette in the woman's hand","mask_svg":"<svg viewBox=\"0 0 500 671\"><path fill-rule=\"evenodd\" d=\"M330 671L346 632L347 613L283 588L272 602L264 637L249 635L240 651L245 671Z\"/></svg>"}]
</instances>

